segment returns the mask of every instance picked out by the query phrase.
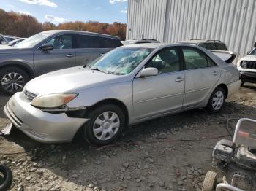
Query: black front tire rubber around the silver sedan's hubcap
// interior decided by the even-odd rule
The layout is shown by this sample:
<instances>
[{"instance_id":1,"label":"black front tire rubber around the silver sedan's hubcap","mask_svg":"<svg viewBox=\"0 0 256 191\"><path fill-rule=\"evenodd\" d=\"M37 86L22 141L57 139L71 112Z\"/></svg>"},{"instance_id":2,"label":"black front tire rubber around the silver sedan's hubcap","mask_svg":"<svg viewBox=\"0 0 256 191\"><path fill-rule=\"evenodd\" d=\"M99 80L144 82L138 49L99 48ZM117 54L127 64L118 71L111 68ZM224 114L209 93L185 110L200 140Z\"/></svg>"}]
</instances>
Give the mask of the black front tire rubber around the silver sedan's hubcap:
<instances>
[{"instance_id":1,"label":"black front tire rubber around the silver sedan's hubcap","mask_svg":"<svg viewBox=\"0 0 256 191\"><path fill-rule=\"evenodd\" d=\"M94 122L97 120L97 118L103 114L104 112L114 112L117 114L119 118L119 128L116 131L116 134L108 140L99 140L96 136L94 136ZM118 138L118 136L121 135L122 130L124 130L125 126L125 117L124 112L119 106L116 106L114 104L103 104L101 106L97 106L93 109L91 109L89 114L86 116L90 120L86 122L86 124L83 126L82 132L83 132L83 138L86 139L86 141L89 142L89 144L94 144L97 146L103 146L106 144L110 144L114 140Z\"/></svg>"}]
</instances>

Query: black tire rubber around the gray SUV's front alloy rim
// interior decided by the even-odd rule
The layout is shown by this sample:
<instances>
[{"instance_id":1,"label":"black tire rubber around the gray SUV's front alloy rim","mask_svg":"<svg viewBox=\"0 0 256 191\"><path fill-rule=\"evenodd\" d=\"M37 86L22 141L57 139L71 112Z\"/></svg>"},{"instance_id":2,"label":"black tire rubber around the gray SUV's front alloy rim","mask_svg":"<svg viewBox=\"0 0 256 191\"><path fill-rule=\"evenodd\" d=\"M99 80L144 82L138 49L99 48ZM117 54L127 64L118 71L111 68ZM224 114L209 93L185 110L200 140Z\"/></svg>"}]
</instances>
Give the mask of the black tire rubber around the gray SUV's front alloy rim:
<instances>
[{"instance_id":1,"label":"black tire rubber around the gray SUV's front alloy rim","mask_svg":"<svg viewBox=\"0 0 256 191\"><path fill-rule=\"evenodd\" d=\"M23 71L23 69L20 69L18 67L15 67L15 66L11 66L11 67L6 67L6 68L1 68L0 70L0 91L6 95L13 95L14 93L16 93L17 91L21 91L22 89L20 90L15 90L15 91L10 91L10 90L5 90L4 87L2 86L2 79L4 78L4 76L6 74L9 74L9 73L12 73L12 72L15 72L15 73L18 73L20 74L22 77L23 77L23 85L26 85L26 82L29 82L29 74L26 73L26 71Z\"/></svg>"}]
</instances>

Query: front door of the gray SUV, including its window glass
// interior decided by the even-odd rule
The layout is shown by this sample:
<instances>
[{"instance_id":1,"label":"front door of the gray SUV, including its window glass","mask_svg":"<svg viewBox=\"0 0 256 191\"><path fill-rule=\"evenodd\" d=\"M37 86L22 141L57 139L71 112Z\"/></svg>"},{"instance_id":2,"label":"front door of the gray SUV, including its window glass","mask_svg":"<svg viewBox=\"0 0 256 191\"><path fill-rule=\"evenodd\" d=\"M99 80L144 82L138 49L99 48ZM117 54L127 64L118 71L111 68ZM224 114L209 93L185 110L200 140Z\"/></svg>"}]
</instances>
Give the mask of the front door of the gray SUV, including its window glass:
<instances>
[{"instance_id":1,"label":"front door of the gray SUV, including its window glass","mask_svg":"<svg viewBox=\"0 0 256 191\"><path fill-rule=\"evenodd\" d=\"M47 42L53 45L53 50L43 51L38 48L34 51L34 69L37 76L75 66L73 37L72 34L55 36Z\"/></svg>"}]
</instances>

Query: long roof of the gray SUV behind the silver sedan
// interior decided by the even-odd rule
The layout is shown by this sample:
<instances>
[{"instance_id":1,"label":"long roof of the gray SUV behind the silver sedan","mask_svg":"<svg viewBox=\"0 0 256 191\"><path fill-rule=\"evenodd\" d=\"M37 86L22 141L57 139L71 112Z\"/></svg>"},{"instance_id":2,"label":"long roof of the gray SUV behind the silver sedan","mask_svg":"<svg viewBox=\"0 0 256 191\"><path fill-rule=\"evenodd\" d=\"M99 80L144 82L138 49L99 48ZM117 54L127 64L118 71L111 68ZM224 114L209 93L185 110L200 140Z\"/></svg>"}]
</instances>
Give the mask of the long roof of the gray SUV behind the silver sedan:
<instances>
[{"instance_id":1,"label":"long roof of the gray SUV behind the silver sedan","mask_svg":"<svg viewBox=\"0 0 256 191\"><path fill-rule=\"evenodd\" d=\"M112 39L120 39L118 36L112 36L112 35L108 35L108 34L92 33L92 32L88 32L88 31L48 30L48 31L43 31L43 33L48 33L48 34L89 34L89 35L94 35L94 36L108 37L108 38L112 38Z\"/></svg>"}]
</instances>

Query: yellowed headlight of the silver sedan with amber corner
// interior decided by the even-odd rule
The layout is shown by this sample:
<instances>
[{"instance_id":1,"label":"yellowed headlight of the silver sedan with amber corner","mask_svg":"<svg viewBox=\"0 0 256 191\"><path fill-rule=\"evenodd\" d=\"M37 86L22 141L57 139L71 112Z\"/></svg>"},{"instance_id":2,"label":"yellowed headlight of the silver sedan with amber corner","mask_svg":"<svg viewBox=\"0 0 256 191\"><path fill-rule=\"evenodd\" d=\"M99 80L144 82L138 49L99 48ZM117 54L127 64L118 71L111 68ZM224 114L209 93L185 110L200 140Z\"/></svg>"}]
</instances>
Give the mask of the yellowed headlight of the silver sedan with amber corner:
<instances>
[{"instance_id":1,"label":"yellowed headlight of the silver sedan with amber corner","mask_svg":"<svg viewBox=\"0 0 256 191\"><path fill-rule=\"evenodd\" d=\"M34 100L31 102L31 105L37 106L39 108L54 109L64 106L77 96L78 93L53 93L42 95L38 98L34 98Z\"/></svg>"}]
</instances>

